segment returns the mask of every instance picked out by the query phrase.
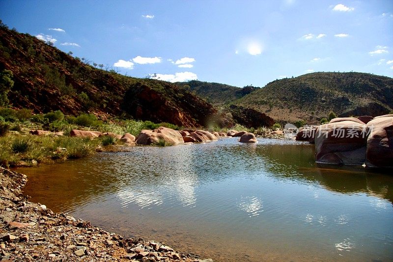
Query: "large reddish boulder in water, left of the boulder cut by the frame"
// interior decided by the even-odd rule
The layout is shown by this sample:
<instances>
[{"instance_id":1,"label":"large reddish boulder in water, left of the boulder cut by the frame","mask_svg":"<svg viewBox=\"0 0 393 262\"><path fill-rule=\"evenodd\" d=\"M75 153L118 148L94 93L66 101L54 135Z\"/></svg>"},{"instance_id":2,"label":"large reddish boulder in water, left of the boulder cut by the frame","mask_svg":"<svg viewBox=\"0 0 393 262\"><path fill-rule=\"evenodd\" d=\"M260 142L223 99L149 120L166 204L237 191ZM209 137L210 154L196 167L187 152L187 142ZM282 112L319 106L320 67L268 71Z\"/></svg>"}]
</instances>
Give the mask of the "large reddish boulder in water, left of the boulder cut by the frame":
<instances>
[{"instance_id":1,"label":"large reddish boulder in water, left of the boulder cut by the frame","mask_svg":"<svg viewBox=\"0 0 393 262\"><path fill-rule=\"evenodd\" d=\"M348 117L345 117L341 121L341 118L318 127L315 133L317 163L364 164L367 126L357 118L347 119Z\"/></svg>"}]
</instances>

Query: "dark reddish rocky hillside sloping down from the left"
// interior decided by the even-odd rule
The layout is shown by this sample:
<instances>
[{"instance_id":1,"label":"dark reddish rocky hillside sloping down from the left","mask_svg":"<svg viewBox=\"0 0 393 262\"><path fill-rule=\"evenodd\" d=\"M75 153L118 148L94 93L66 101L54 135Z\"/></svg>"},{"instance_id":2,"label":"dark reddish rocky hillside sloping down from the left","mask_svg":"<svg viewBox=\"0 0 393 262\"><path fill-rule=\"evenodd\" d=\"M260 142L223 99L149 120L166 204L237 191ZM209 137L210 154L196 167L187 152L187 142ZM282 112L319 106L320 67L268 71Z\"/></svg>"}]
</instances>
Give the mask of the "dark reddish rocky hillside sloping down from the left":
<instances>
[{"instance_id":1,"label":"dark reddish rocky hillside sloping down from the left","mask_svg":"<svg viewBox=\"0 0 393 262\"><path fill-rule=\"evenodd\" d=\"M35 113L61 110L70 115L129 116L189 127L232 123L184 88L102 68L29 34L0 26L0 72L10 70L13 74L8 99L14 108Z\"/></svg>"}]
</instances>

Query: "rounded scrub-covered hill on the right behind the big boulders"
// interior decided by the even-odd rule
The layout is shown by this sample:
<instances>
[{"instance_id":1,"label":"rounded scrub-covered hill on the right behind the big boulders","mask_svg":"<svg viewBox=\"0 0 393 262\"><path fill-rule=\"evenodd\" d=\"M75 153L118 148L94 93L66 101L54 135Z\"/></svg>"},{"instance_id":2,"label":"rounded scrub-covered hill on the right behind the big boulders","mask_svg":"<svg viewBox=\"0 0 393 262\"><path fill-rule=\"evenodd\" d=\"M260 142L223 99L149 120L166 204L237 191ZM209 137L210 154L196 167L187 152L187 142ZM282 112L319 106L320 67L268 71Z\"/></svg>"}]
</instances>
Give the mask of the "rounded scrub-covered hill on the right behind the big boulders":
<instances>
[{"instance_id":1,"label":"rounded scrub-covered hill on the right behind the big boulders","mask_svg":"<svg viewBox=\"0 0 393 262\"><path fill-rule=\"evenodd\" d=\"M393 79L367 73L317 72L273 81L233 102L278 121L319 122L337 116L378 116L393 110Z\"/></svg>"}]
</instances>

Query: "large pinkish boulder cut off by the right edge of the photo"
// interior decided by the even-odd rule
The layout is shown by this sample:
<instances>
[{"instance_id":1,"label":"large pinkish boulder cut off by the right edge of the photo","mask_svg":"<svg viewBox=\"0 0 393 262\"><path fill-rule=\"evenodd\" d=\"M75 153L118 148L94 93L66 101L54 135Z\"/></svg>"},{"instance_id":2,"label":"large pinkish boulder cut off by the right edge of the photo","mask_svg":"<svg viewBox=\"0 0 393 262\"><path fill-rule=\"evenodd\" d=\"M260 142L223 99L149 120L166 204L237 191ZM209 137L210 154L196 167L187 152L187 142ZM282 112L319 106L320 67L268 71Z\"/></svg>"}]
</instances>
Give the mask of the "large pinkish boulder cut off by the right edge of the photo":
<instances>
[{"instance_id":1,"label":"large pinkish boulder cut off by the right edge of the photo","mask_svg":"<svg viewBox=\"0 0 393 262\"><path fill-rule=\"evenodd\" d=\"M367 139L365 165L369 167L393 167L393 115L377 116L367 123L370 134Z\"/></svg>"}]
</instances>

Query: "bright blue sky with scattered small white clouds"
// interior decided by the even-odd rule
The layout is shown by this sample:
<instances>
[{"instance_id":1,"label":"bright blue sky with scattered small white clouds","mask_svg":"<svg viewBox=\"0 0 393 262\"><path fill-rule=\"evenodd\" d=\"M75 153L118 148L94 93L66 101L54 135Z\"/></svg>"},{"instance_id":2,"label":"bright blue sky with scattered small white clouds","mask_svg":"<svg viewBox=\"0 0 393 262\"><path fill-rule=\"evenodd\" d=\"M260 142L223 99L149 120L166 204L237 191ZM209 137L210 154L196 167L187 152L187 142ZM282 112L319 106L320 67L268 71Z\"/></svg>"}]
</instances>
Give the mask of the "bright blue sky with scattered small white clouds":
<instances>
[{"instance_id":1,"label":"bright blue sky with scattered small white clouds","mask_svg":"<svg viewBox=\"0 0 393 262\"><path fill-rule=\"evenodd\" d=\"M318 71L393 77L393 0L1 0L0 19L134 77L238 87Z\"/></svg>"}]
</instances>

